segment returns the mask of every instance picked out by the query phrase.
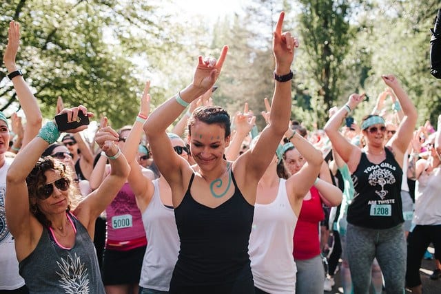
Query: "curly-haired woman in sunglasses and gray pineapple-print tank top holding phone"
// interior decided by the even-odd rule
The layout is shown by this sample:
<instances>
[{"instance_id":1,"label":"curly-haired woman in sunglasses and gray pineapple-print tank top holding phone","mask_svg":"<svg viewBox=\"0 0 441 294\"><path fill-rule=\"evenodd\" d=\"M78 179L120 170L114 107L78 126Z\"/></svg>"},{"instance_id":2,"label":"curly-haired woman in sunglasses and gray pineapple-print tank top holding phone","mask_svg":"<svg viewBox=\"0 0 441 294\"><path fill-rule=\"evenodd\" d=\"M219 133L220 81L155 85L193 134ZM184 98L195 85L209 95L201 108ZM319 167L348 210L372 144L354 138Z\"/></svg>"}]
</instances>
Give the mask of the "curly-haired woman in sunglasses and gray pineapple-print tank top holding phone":
<instances>
[{"instance_id":1,"label":"curly-haired woman in sunglasses and gray pineapple-print tank top holding phone","mask_svg":"<svg viewBox=\"0 0 441 294\"><path fill-rule=\"evenodd\" d=\"M63 109L69 121L83 106ZM86 126L70 130L79 132ZM88 197L76 203L72 175L52 157L40 158L60 136L50 121L12 162L8 171L6 218L15 238L20 274L30 293L105 293L94 251L94 224L119 191L130 167L112 141L116 132L103 127L95 140L112 165L112 173Z\"/></svg>"}]
</instances>

